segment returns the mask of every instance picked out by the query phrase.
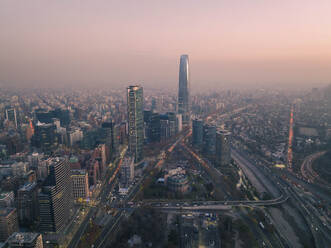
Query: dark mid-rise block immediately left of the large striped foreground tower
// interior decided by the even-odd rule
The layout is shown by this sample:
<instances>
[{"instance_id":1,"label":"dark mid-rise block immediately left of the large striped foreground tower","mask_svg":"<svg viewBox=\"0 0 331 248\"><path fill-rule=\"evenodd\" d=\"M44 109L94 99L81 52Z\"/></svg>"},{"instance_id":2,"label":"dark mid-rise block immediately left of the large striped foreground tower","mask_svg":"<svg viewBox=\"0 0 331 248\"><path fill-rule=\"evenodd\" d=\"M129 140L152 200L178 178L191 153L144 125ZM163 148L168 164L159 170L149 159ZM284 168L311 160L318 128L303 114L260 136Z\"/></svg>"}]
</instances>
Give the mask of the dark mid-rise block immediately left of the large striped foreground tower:
<instances>
[{"instance_id":1,"label":"dark mid-rise block immediately left of the large striped foreground tower","mask_svg":"<svg viewBox=\"0 0 331 248\"><path fill-rule=\"evenodd\" d=\"M39 216L37 183L26 183L17 191L18 220L22 226L29 226Z\"/></svg>"}]
</instances>

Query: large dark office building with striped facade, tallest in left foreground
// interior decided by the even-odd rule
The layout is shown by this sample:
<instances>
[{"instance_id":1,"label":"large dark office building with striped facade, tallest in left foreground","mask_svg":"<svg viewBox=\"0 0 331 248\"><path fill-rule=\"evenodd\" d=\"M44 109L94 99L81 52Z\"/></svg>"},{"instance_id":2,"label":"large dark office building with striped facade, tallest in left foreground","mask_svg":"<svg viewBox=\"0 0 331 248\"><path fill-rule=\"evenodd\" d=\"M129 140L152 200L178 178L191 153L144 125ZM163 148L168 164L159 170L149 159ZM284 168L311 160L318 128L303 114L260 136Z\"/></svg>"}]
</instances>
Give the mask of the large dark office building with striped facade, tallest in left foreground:
<instances>
[{"instance_id":1,"label":"large dark office building with striped facade, tallest in left foreground","mask_svg":"<svg viewBox=\"0 0 331 248\"><path fill-rule=\"evenodd\" d=\"M39 193L40 230L58 232L71 217L73 204L69 162L65 158L49 161L49 176Z\"/></svg>"}]
</instances>

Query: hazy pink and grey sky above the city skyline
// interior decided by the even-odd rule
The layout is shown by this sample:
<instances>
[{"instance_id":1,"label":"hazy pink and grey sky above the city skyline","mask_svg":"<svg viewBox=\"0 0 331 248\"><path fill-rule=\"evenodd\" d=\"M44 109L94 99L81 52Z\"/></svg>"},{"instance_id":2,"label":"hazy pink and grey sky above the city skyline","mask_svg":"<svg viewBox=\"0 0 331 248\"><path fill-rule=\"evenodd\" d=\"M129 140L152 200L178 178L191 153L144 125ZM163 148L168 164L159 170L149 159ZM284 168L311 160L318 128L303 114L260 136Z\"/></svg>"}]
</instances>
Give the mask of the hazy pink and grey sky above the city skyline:
<instances>
[{"instance_id":1,"label":"hazy pink and grey sky above the city skyline","mask_svg":"<svg viewBox=\"0 0 331 248\"><path fill-rule=\"evenodd\" d=\"M331 82L330 0L1 0L0 85Z\"/></svg>"}]
</instances>

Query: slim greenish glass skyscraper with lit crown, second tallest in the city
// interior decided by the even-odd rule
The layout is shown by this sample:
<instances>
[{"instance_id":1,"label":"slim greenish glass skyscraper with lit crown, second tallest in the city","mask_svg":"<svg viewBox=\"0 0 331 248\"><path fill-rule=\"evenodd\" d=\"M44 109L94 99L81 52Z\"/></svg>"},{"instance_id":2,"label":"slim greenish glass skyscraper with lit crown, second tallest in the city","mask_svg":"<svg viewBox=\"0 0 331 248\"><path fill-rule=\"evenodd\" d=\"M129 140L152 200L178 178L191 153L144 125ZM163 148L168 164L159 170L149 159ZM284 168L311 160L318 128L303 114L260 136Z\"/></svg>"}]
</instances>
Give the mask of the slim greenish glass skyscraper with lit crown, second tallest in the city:
<instances>
[{"instance_id":1,"label":"slim greenish glass skyscraper with lit crown, second tallest in the city","mask_svg":"<svg viewBox=\"0 0 331 248\"><path fill-rule=\"evenodd\" d=\"M129 152L134 155L134 162L143 160L144 145L144 94L138 85L127 88L127 109L129 123Z\"/></svg>"}]
</instances>

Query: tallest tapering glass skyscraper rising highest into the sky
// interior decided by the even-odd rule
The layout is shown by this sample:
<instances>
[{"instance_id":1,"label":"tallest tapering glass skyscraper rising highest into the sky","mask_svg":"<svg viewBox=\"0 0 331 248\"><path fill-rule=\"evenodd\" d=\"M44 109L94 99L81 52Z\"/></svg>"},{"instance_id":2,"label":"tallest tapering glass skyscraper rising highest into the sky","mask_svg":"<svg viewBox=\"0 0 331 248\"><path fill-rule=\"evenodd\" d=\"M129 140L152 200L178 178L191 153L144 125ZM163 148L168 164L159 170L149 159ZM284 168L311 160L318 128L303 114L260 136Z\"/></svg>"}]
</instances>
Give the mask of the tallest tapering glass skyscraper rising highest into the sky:
<instances>
[{"instance_id":1,"label":"tallest tapering glass skyscraper rising highest into the sky","mask_svg":"<svg viewBox=\"0 0 331 248\"><path fill-rule=\"evenodd\" d=\"M180 56L179 87L178 87L178 114L182 114L183 123L190 121L190 92L189 92L188 55Z\"/></svg>"}]
</instances>

